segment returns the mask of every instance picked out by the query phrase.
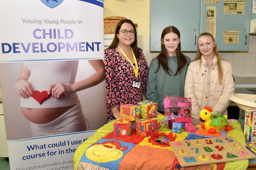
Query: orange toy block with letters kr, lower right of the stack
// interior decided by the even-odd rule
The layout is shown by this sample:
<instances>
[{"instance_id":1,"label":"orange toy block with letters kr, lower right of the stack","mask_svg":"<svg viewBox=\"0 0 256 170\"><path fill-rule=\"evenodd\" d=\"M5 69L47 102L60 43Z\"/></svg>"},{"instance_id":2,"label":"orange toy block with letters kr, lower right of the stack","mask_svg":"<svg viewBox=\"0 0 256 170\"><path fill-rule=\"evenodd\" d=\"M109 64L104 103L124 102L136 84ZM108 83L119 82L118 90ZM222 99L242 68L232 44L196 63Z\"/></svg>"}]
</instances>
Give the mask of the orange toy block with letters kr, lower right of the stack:
<instances>
[{"instance_id":1,"label":"orange toy block with letters kr, lower right of the stack","mask_svg":"<svg viewBox=\"0 0 256 170\"><path fill-rule=\"evenodd\" d=\"M136 134L144 137L150 136L156 132L157 121L156 119L138 119L136 123Z\"/></svg>"}]
</instances>

